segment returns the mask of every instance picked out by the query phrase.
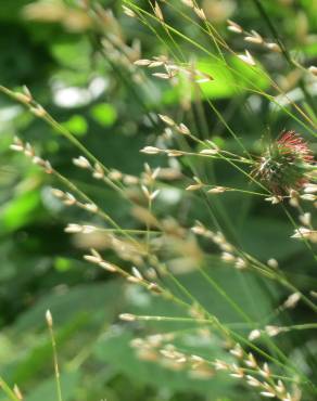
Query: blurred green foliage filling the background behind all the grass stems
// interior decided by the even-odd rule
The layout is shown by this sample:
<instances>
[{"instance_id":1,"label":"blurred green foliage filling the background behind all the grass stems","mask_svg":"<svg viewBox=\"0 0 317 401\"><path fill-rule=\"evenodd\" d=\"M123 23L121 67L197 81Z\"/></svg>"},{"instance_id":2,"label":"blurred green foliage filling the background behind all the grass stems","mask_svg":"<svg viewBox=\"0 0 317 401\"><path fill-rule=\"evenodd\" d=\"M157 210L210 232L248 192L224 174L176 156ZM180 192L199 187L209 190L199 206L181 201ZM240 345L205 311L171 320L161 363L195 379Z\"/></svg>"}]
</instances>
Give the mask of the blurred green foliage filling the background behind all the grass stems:
<instances>
[{"instance_id":1,"label":"blurred green foliage filling the background behind all the grass stems","mask_svg":"<svg viewBox=\"0 0 317 401\"><path fill-rule=\"evenodd\" d=\"M160 54L161 42L144 26L123 15L119 1L98 2L113 10L129 44L134 38L141 40L144 57ZM150 82L148 90L139 88L136 82L129 81L129 72L124 66L115 65L106 54L101 56L98 38L91 30L72 31L67 29L67 25L59 22L29 21L25 17L25 7L31 3L29 0L0 2L1 85L12 89L26 85L54 118L107 167L126 173L140 173L143 163L149 158L140 154L139 150L151 143L157 134L157 128L150 124L149 112L177 109L178 103L188 94L186 82L180 82L173 89L162 82ZM149 8L148 3L140 3ZM212 0L205 3L213 5ZM234 21L237 18L245 28L256 27L258 31L269 36L257 10L250 7L249 1L232 0L230 3L233 11L226 17ZM317 57L317 47L316 42L306 38L312 33L316 34L316 1L290 3L268 1L266 5L293 52L301 60L307 56L313 64ZM76 1L65 1L65 4L69 9L78 5ZM189 36L206 41L195 27L183 25L181 20L178 21L173 15L167 14L167 18L174 18L175 26L182 28ZM216 24L221 34L233 42L237 51L243 51L244 43L226 33L225 20L217 21ZM192 51L189 43L179 38L176 40L185 53ZM212 48L211 43L208 46ZM250 96L248 90L243 89L245 81L239 82L241 88L237 93L234 76L221 70L219 64L210 63L208 57L200 52L198 57L200 68L215 78L203 87L203 108L207 119L205 125L201 121L201 128L206 130L207 135L212 132L219 146L226 143L227 150L237 150L237 143L207 108L208 100L214 101L224 112L229 126L238 127L243 143L252 153L257 152L258 139L267 125L270 125L274 135L283 128L290 128L286 114L272 114L267 103L261 102L256 95L253 102L257 104L257 108L250 115L241 106ZM274 75L288 74L289 67L283 62L271 63L269 54L264 54L263 60L264 67ZM258 88L268 88L266 77L258 78L256 73L250 73L241 63L237 68L245 79L256 81ZM141 102L137 101L139 98ZM292 122L291 128L299 127ZM192 352L201 350L212 359L228 357L219 351L215 337L207 338L204 342L195 331L190 331L186 325L131 325L118 322L117 316L123 311L153 315L182 313L177 308L164 305L158 298L151 298L141 289L130 289L125 282L83 261L83 244L72 241L63 229L67 222L76 222L78 219L87 221L87 214L62 207L50 195L49 187L56 184L53 179L9 151L14 134L35 144L43 157L49 158L58 170L88 191L122 225L132 224L130 210L124 200L117 198L107 187L92 183L88 176L73 166L72 158L77 157L78 152L65 139L22 106L1 95L1 376L12 385L17 383L29 401L56 400L51 344L45 325L45 312L50 309L55 323L64 401L245 400L243 389L240 388L240 392L237 392L239 386L225 376L199 380L189 378L183 372L170 372L158 364L137 358L129 347L131 338L144 331L155 333L164 329L179 331L178 341L183 349ZM189 176L191 160L183 158L181 163ZM151 164L167 166L160 158L151 159ZM206 176L212 176L207 164L202 164L201 167ZM234 176L230 167L221 163L215 166L215 173L224 185L243 185L243 178ZM289 236L293 228L284 216L274 211L267 204L257 199L250 200L241 194L224 194L223 199L226 211L224 225L228 221L233 222L243 248L263 261L269 257L279 259L286 274L295 277L304 292L312 284L316 286L317 276L312 273L310 256L301 243L290 243ZM156 212L163 216L168 210L175 219L186 224L191 224L194 219L212 220L200 200L193 200L190 210L183 211L183 218L181 210L187 210L187 205L185 198L172 204L158 202ZM216 199L213 211L217 210ZM230 236L229 224L227 229ZM111 251L105 253L110 260L116 261ZM241 309L257 320L272 313L274 307L286 296L276 285L263 282L255 275L241 276L240 273L232 274L231 270L223 270L217 263L212 264L213 280L226 287ZM231 323L239 320L237 311L224 301L215 288L211 290L210 286L204 285L199 273L183 273L180 277L219 319ZM301 306L295 312L295 321L309 319L309 313ZM309 340L313 341L309 352L316 353L313 334L303 335L300 339L294 336L292 341L281 344L281 348L288 351L296 344L302 350L310 344ZM249 399L256 400L257 396ZM1 394L0 400L5 400L5 397Z\"/></svg>"}]
</instances>

